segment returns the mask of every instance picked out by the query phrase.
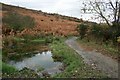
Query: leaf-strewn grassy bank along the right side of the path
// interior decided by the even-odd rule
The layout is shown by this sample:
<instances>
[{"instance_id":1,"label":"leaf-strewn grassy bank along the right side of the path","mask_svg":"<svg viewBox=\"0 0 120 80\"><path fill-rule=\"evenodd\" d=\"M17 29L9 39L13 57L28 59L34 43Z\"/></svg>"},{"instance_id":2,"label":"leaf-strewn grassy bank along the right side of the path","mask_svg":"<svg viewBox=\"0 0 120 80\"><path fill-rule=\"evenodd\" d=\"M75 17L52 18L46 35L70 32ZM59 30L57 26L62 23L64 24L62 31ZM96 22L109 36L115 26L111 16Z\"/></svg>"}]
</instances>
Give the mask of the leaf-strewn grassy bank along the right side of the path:
<instances>
[{"instance_id":1,"label":"leaf-strewn grassy bank along the right side of the path","mask_svg":"<svg viewBox=\"0 0 120 80\"><path fill-rule=\"evenodd\" d=\"M86 39L77 39L80 46L86 51L96 50L104 55L112 57L113 59L118 60L119 51L118 48L110 44L98 44L95 41L87 41Z\"/></svg>"}]
</instances>

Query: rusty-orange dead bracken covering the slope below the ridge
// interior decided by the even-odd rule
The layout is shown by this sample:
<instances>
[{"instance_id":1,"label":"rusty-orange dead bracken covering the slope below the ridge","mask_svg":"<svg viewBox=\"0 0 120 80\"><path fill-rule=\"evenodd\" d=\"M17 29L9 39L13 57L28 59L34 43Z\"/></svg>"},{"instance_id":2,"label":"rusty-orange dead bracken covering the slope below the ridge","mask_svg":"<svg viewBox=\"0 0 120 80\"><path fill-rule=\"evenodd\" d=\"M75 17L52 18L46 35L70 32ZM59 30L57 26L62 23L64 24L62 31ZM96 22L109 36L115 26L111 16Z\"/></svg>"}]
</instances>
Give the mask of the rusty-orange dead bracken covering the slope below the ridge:
<instances>
[{"instance_id":1,"label":"rusty-orange dead bracken covering the slope below the ridge","mask_svg":"<svg viewBox=\"0 0 120 80\"><path fill-rule=\"evenodd\" d=\"M43 13L36 13L34 11L26 10L23 8L11 8L13 11L18 12L19 14L31 16L35 19L36 26L32 30L24 30L22 34L38 34L43 32L45 34L54 34L62 36L78 35L78 32L76 31L78 23L75 21L64 20L59 17L57 18L57 16L54 15L47 16ZM8 11L3 12L3 16L6 12Z\"/></svg>"}]
</instances>

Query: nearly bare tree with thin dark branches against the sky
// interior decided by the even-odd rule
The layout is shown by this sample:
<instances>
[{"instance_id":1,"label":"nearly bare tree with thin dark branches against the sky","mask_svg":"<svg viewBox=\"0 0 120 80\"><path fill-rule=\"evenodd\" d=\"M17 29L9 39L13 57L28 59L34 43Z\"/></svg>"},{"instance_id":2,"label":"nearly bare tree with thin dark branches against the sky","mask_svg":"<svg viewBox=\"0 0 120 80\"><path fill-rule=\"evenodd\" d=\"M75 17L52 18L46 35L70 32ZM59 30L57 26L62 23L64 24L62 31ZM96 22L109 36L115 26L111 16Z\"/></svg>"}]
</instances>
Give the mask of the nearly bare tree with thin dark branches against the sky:
<instances>
[{"instance_id":1,"label":"nearly bare tree with thin dark branches against the sky","mask_svg":"<svg viewBox=\"0 0 120 80\"><path fill-rule=\"evenodd\" d=\"M86 0L83 2L84 13L94 13L109 26L113 43L120 36L120 1L119 0Z\"/></svg>"}]
</instances>

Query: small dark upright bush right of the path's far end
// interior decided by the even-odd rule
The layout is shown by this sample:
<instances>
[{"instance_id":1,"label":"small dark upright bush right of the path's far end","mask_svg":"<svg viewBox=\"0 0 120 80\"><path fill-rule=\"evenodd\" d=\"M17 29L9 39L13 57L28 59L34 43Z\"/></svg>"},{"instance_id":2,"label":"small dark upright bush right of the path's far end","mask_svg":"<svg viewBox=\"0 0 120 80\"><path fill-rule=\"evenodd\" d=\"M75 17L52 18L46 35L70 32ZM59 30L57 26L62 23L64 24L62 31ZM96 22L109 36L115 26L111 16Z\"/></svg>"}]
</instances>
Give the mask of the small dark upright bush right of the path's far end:
<instances>
[{"instance_id":1,"label":"small dark upright bush right of the path's far end","mask_svg":"<svg viewBox=\"0 0 120 80\"><path fill-rule=\"evenodd\" d=\"M81 39L85 37L85 34L87 32L88 25L87 24L80 24L77 26L79 34L81 36Z\"/></svg>"}]
</instances>

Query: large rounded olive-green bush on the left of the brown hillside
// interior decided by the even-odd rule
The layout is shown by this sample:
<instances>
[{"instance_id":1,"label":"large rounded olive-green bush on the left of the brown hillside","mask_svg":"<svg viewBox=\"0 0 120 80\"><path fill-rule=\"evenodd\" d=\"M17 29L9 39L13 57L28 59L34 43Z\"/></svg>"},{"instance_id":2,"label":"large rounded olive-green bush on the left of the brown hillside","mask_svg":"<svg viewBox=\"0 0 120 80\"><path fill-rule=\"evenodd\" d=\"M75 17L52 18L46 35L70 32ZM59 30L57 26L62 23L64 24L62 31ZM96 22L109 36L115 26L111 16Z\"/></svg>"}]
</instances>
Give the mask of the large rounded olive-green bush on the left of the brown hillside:
<instances>
[{"instance_id":1,"label":"large rounded olive-green bush on the left of the brown hillside","mask_svg":"<svg viewBox=\"0 0 120 80\"><path fill-rule=\"evenodd\" d=\"M21 31L24 28L31 28L35 25L34 19L30 16L23 16L16 12L8 13L3 17L3 24L7 24L15 31Z\"/></svg>"}]
</instances>

